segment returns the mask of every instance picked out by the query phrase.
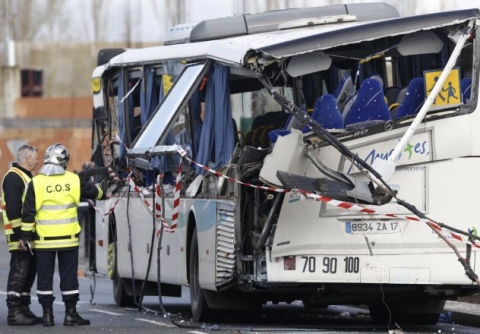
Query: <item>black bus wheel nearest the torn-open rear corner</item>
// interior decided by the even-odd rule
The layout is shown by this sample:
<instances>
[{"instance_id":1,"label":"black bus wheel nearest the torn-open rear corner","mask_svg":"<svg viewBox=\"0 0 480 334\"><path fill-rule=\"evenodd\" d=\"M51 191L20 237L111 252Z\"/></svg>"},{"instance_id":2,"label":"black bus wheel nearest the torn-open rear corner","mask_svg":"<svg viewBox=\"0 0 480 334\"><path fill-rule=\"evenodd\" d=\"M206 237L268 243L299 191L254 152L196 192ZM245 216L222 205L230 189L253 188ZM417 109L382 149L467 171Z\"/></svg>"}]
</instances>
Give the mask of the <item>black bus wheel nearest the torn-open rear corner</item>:
<instances>
[{"instance_id":1,"label":"black bus wheel nearest the torn-open rear corner","mask_svg":"<svg viewBox=\"0 0 480 334\"><path fill-rule=\"evenodd\" d=\"M200 288L198 264L198 237L197 230L193 231L190 246L190 303L194 321L209 321L214 318L214 311L208 306L205 292Z\"/></svg>"}]
</instances>

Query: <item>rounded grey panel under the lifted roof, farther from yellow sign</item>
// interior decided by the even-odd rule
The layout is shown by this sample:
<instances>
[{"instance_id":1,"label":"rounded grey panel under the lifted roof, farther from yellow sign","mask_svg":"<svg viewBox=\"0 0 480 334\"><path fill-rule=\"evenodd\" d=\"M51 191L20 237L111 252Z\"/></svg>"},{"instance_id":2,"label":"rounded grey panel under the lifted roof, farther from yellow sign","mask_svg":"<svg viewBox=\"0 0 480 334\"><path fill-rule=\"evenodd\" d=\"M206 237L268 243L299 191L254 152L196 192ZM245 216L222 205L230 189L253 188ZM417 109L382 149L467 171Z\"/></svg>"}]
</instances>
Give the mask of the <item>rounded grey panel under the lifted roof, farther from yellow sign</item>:
<instances>
[{"instance_id":1,"label":"rounded grey panel under the lifted roof, farther from yellow sign","mask_svg":"<svg viewBox=\"0 0 480 334\"><path fill-rule=\"evenodd\" d=\"M330 68L332 58L323 52L306 53L293 56L288 65L287 73L292 77L325 71Z\"/></svg>"}]
</instances>

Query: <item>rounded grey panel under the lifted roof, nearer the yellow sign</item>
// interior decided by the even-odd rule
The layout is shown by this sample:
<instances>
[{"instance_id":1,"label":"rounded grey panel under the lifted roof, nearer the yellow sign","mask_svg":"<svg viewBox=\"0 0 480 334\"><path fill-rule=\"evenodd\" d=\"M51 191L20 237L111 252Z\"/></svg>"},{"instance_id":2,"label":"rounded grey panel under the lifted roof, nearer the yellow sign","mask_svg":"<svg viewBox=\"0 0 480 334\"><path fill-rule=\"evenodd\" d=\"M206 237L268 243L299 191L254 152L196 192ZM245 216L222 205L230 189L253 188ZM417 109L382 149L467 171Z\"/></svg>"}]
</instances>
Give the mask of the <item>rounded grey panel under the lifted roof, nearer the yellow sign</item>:
<instances>
[{"instance_id":1,"label":"rounded grey panel under the lifted roof, nearer the yellow sign","mask_svg":"<svg viewBox=\"0 0 480 334\"><path fill-rule=\"evenodd\" d=\"M427 53L438 53L443 47L443 42L432 31L418 31L397 46L402 56L413 56Z\"/></svg>"}]
</instances>

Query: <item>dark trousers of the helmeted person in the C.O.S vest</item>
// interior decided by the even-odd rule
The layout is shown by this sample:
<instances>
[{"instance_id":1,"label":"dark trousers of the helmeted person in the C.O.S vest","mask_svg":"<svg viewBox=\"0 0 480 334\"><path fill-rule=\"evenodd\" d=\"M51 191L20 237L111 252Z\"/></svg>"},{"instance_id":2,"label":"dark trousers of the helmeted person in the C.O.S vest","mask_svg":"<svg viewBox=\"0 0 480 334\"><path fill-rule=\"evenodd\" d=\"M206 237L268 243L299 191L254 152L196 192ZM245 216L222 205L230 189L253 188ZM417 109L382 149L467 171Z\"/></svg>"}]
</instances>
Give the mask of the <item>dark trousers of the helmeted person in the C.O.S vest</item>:
<instances>
[{"instance_id":1,"label":"dark trousers of the helmeted person in the C.O.S vest","mask_svg":"<svg viewBox=\"0 0 480 334\"><path fill-rule=\"evenodd\" d=\"M67 250L37 250L37 296L40 304L52 304L53 275L55 272L55 256L58 256L58 272L60 274L60 291L64 303L77 303L78 291L78 248Z\"/></svg>"}]
</instances>

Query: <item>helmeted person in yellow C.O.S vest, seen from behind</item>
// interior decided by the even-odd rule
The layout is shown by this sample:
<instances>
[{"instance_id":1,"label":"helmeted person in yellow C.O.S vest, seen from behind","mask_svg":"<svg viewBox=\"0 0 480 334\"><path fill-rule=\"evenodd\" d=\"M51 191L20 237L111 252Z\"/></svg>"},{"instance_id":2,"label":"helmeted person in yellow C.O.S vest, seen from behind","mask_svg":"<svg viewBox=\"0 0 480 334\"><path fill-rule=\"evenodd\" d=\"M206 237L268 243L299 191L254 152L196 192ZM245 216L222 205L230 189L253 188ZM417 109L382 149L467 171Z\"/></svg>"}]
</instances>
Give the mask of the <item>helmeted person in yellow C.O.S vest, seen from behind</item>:
<instances>
[{"instance_id":1,"label":"helmeted person in yellow C.O.S vest, seen from behind","mask_svg":"<svg viewBox=\"0 0 480 334\"><path fill-rule=\"evenodd\" d=\"M37 296L43 308L43 325L53 326L53 275L58 257L60 291L65 303L65 326L90 325L76 311L79 301L78 248L81 227L77 207L80 197L104 199L102 189L68 172L70 154L54 144L47 148L44 165L27 187L22 215L20 247L32 241L37 256Z\"/></svg>"}]
</instances>

